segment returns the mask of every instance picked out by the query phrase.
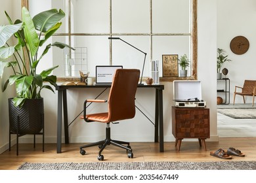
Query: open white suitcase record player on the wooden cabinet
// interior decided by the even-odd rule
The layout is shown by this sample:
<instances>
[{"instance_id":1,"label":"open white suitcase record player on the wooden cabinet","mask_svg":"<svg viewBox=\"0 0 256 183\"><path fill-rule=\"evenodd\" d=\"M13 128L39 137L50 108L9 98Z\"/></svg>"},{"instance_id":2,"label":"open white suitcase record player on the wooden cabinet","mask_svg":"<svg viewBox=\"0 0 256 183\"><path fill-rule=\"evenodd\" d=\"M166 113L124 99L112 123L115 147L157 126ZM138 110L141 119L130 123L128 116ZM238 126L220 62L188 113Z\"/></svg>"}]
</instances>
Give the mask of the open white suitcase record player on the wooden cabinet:
<instances>
[{"instance_id":1,"label":"open white suitcase record player on the wooden cabinet","mask_svg":"<svg viewBox=\"0 0 256 183\"><path fill-rule=\"evenodd\" d=\"M206 107L206 102L202 100L201 81L173 81L173 100L175 107Z\"/></svg>"}]
</instances>

